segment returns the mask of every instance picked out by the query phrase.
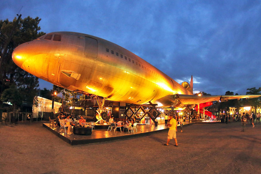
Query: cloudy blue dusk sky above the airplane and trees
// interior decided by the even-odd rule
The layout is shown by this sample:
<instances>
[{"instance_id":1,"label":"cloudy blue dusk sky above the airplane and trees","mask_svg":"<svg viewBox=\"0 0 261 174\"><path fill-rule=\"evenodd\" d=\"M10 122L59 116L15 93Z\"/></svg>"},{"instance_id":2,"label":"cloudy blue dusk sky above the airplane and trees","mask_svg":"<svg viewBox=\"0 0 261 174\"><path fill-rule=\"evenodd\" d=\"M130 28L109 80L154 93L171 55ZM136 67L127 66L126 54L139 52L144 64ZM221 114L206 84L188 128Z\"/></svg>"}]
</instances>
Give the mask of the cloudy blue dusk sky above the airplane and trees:
<instances>
[{"instance_id":1,"label":"cloudy blue dusk sky above the airplane and trees","mask_svg":"<svg viewBox=\"0 0 261 174\"><path fill-rule=\"evenodd\" d=\"M41 18L46 33L111 41L178 83L193 75L194 92L244 95L261 87L261 1L1 1L0 20L18 12Z\"/></svg>"}]
</instances>

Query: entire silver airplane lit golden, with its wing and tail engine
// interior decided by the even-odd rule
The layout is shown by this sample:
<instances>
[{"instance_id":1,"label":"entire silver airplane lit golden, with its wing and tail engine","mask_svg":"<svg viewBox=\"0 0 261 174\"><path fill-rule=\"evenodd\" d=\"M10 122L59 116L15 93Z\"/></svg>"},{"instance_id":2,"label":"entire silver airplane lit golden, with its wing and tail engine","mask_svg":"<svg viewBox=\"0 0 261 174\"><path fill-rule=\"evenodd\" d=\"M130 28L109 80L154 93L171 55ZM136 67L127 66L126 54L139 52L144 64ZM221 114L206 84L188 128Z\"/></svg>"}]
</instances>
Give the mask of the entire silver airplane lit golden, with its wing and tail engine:
<instances>
[{"instance_id":1,"label":"entire silver airplane lit golden, with its wing and tail engine","mask_svg":"<svg viewBox=\"0 0 261 174\"><path fill-rule=\"evenodd\" d=\"M191 82L181 85L132 52L99 37L52 32L19 45L12 59L27 72L52 84L104 99L131 104L190 109L195 104L260 95L193 95Z\"/></svg>"}]
</instances>

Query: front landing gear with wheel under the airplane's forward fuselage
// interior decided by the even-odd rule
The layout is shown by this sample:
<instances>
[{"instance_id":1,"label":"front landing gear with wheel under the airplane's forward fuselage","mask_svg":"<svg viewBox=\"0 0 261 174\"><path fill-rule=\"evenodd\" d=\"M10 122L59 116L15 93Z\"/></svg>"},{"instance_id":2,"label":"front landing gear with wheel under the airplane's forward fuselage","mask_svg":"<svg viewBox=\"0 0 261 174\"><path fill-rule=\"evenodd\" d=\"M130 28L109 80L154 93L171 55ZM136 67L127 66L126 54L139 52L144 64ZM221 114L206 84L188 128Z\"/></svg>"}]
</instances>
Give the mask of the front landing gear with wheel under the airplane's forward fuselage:
<instances>
[{"instance_id":1,"label":"front landing gear with wheel under the airplane's forward fuselage","mask_svg":"<svg viewBox=\"0 0 261 174\"><path fill-rule=\"evenodd\" d=\"M103 124L106 123L106 119L108 118L108 114L104 108L104 102L105 102L105 99L104 97L100 97L100 96L95 96L96 100L97 100L97 103L98 103L98 106L99 106L99 109L96 110L96 119L97 119L97 122L99 122L99 124ZM107 124L107 123L106 123Z\"/></svg>"}]
</instances>

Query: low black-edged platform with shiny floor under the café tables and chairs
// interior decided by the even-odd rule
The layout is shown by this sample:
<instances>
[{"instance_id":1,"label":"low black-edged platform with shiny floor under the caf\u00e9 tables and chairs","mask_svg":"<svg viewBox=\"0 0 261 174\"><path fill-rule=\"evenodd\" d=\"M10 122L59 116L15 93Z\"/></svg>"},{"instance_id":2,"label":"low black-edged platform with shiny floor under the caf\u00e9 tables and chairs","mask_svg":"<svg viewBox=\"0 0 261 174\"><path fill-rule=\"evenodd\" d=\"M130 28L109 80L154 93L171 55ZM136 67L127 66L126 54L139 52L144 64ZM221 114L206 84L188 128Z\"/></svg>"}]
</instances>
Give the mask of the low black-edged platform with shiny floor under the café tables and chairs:
<instances>
[{"instance_id":1,"label":"low black-edged platform with shiny floor under the caf\u00e9 tables and chairs","mask_svg":"<svg viewBox=\"0 0 261 174\"><path fill-rule=\"evenodd\" d=\"M189 125L192 122L184 122L184 125ZM158 126L146 124L146 125L139 125L137 126L137 132L134 130L134 133L128 133L126 132L126 129L124 129L124 132L121 133L120 131L107 131L106 129L96 129L93 130L92 135L67 135L64 133L64 131L60 131L58 133L60 127L52 127L49 126L49 123L43 123L43 126L47 128L49 131L57 135L59 138L63 139L65 142L69 143L70 145L79 145L79 144L89 144L89 143L98 143L98 142L106 142L106 141L113 141L113 140L119 140L119 139L127 139L127 138L133 138L133 137L139 137L139 136L146 136L150 135L152 133L157 133L161 131L167 131L168 128L164 124L159 124ZM67 131L67 129L66 129ZM71 133L73 133L73 129L71 129Z\"/></svg>"}]
</instances>

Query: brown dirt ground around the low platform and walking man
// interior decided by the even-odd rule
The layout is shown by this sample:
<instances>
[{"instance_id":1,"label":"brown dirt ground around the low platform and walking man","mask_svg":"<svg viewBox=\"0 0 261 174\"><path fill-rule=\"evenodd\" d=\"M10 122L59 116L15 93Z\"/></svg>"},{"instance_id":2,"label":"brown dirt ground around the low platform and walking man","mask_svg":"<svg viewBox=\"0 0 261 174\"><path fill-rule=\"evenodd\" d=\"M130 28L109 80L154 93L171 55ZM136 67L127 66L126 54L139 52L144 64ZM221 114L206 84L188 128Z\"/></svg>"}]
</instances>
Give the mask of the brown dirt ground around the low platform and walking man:
<instances>
[{"instance_id":1,"label":"brown dirt ground around the low platform and walking man","mask_svg":"<svg viewBox=\"0 0 261 174\"><path fill-rule=\"evenodd\" d=\"M178 128L179 130L179 128ZM0 173L261 173L261 123L193 124L167 131L70 146L38 123L0 124Z\"/></svg>"}]
</instances>

